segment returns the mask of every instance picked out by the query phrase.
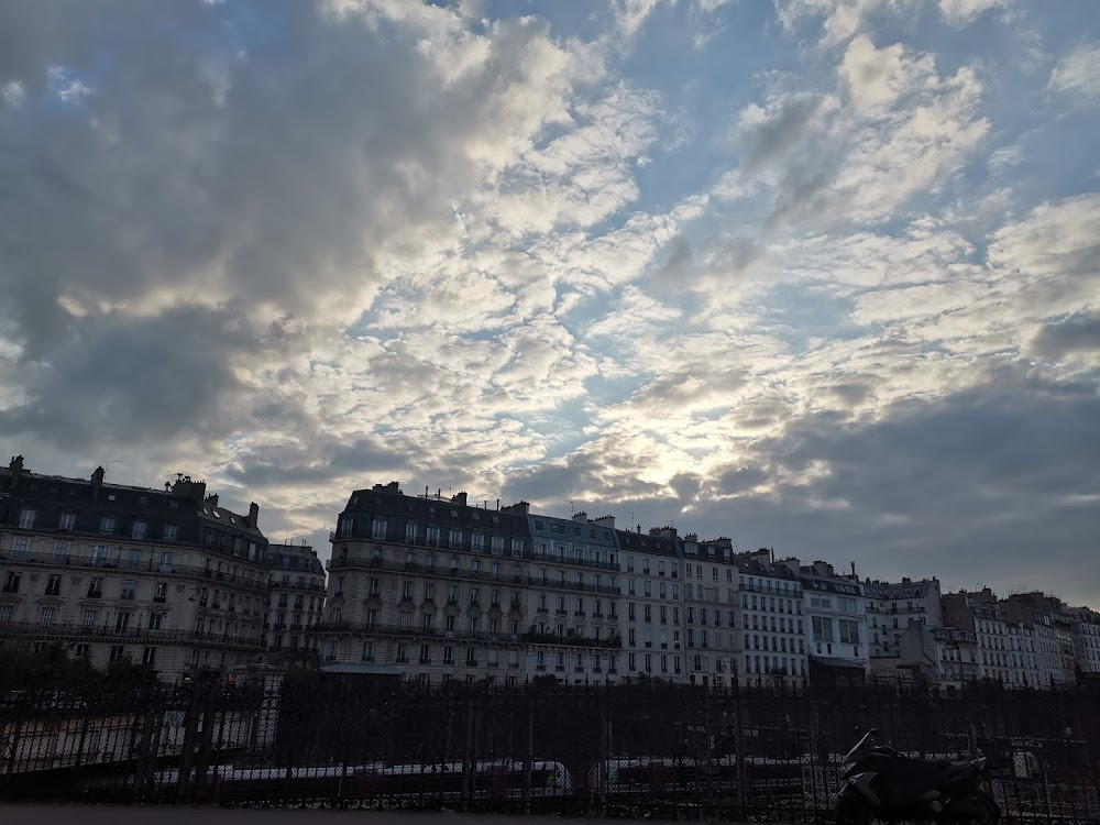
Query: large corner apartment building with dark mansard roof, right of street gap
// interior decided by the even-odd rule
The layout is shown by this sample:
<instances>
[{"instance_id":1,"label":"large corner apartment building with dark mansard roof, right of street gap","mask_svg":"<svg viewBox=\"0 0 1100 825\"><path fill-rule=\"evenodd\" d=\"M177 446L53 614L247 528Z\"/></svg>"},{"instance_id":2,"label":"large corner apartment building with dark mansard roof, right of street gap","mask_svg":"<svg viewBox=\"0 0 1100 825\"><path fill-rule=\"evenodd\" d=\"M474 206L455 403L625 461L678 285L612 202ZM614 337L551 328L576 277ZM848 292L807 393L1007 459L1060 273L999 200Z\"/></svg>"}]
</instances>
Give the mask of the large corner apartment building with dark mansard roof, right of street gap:
<instances>
[{"instance_id":1,"label":"large corner apartment building with dark mansard roof, right of street gap","mask_svg":"<svg viewBox=\"0 0 1100 825\"><path fill-rule=\"evenodd\" d=\"M422 683L515 684L526 674L537 632L529 591L550 583L530 578L525 507L378 484L351 494L330 540L324 620L315 626L326 661L384 663Z\"/></svg>"}]
</instances>

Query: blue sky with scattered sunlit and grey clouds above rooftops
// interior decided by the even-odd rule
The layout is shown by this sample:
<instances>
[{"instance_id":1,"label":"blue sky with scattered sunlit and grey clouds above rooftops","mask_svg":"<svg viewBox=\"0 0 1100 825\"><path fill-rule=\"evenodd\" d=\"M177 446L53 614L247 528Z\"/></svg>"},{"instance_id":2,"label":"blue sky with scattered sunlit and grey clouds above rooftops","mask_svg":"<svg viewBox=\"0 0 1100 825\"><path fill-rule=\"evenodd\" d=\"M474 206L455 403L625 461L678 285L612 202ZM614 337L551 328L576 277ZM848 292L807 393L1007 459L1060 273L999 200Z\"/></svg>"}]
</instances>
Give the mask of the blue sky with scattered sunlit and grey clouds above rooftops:
<instances>
[{"instance_id":1,"label":"blue sky with scattered sunlit and grey clouds above rooftops","mask_svg":"<svg viewBox=\"0 0 1100 825\"><path fill-rule=\"evenodd\" d=\"M0 449L1100 607L1092 0L6 0Z\"/></svg>"}]
</instances>

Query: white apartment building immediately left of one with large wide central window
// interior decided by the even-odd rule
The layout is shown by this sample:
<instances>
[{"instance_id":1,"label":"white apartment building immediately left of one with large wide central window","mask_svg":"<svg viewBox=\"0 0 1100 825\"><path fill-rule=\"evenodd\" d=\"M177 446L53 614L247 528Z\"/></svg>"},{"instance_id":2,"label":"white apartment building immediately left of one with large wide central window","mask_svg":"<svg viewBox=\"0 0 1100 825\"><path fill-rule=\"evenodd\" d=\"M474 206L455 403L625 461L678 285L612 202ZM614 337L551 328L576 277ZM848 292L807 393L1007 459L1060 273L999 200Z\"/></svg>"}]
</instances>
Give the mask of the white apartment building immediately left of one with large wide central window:
<instances>
[{"instance_id":1,"label":"white apartment building immediately left of one with large wide central window","mask_svg":"<svg viewBox=\"0 0 1100 825\"><path fill-rule=\"evenodd\" d=\"M809 676L803 591L790 568L768 550L737 557L743 636L743 684Z\"/></svg>"}]
</instances>

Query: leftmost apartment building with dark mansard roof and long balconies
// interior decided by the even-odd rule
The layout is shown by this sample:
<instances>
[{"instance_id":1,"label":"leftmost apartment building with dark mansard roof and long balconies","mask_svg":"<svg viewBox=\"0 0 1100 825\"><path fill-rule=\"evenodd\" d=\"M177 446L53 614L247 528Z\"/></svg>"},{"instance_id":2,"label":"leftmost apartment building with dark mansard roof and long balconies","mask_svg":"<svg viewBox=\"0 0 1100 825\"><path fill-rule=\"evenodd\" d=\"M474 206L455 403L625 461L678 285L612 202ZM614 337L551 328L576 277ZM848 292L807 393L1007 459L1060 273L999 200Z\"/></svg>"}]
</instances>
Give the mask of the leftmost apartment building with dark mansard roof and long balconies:
<instances>
[{"instance_id":1,"label":"leftmost apartment building with dark mansard roof and long balconies","mask_svg":"<svg viewBox=\"0 0 1100 825\"><path fill-rule=\"evenodd\" d=\"M163 490L0 468L0 639L133 659L175 681L263 647L267 540L204 482Z\"/></svg>"}]
</instances>

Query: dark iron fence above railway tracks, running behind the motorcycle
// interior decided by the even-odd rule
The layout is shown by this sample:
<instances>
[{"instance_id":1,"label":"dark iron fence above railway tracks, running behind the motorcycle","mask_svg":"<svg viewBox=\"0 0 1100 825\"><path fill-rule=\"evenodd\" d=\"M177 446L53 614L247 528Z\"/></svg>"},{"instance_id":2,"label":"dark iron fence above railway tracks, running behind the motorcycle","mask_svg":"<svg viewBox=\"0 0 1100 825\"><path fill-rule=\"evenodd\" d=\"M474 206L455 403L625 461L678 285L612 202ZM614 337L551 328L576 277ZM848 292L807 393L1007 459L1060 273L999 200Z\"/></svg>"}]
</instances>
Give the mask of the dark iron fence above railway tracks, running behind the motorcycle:
<instances>
[{"instance_id":1,"label":"dark iron fence above railway tracks, running behind the motorcycle","mask_svg":"<svg viewBox=\"0 0 1100 825\"><path fill-rule=\"evenodd\" d=\"M424 688L364 678L0 698L0 798L827 820L869 727L990 758L1010 822L1100 822L1100 701L912 685Z\"/></svg>"}]
</instances>

